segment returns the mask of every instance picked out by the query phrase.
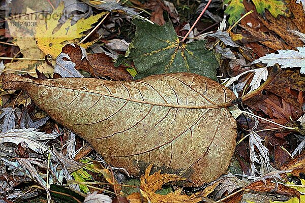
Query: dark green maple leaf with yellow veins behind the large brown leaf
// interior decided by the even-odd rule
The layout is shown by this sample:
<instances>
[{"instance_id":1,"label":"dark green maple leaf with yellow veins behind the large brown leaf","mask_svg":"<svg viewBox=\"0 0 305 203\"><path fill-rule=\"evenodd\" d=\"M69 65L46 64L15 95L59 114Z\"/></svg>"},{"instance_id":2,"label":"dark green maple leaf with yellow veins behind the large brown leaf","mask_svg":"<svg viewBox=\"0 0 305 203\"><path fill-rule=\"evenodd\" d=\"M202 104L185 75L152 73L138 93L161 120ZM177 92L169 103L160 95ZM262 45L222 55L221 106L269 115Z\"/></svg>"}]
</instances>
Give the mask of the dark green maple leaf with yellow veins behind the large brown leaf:
<instances>
[{"instance_id":1,"label":"dark green maple leaf with yellow veins behind the large brown leaf","mask_svg":"<svg viewBox=\"0 0 305 203\"><path fill-rule=\"evenodd\" d=\"M204 41L179 42L171 22L160 26L134 19L132 23L136 25L135 37L126 55L118 56L116 65L132 59L138 71L137 79L162 73L190 72L217 80L218 62L212 52L205 50Z\"/></svg>"}]
</instances>

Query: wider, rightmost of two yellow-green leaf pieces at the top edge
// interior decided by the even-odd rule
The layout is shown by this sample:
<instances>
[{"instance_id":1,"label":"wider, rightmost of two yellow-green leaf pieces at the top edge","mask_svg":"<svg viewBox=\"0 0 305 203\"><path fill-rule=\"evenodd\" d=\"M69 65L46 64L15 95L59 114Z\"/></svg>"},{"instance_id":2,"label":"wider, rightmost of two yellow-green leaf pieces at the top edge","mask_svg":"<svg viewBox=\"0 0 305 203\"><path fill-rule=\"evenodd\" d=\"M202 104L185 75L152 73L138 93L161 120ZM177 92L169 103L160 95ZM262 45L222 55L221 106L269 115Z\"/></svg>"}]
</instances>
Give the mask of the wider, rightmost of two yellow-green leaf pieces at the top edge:
<instances>
[{"instance_id":1,"label":"wider, rightmost of two yellow-green leaf pieces at the top edge","mask_svg":"<svg viewBox=\"0 0 305 203\"><path fill-rule=\"evenodd\" d=\"M255 5L257 13L265 17L265 9L267 9L273 17L278 15L285 15L287 7L281 0L252 0Z\"/></svg>"}]
</instances>

